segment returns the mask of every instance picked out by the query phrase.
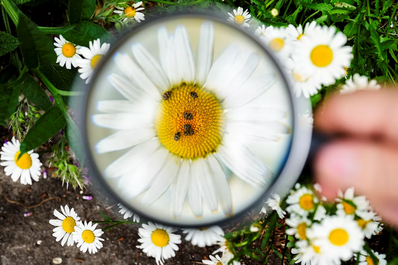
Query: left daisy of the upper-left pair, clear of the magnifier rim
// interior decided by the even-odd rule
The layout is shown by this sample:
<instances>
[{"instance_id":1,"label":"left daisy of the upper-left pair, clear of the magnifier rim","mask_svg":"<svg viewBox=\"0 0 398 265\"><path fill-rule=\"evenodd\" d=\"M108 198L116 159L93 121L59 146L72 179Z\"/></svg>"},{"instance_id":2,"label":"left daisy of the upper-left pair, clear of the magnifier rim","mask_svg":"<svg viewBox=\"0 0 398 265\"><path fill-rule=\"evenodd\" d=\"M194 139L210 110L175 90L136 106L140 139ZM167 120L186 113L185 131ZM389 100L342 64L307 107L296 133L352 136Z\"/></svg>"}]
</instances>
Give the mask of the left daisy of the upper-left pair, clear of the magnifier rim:
<instances>
[{"instance_id":1,"label":"left daisy of the upper-left pair, clear of the magnifier rim","mask_svg":"<svg viewBox=\"0 0 398 265\"><path fill-rule=\"evenodd\" d=\"M57 54L56 62L59 63L60 66L65 65L66 69L71 69L71 65L77 67L78 64L76 60L82 58L79 55L81 47L67 41L62 35L59 35L59 39L55 37L54 40L54 46L57 47L54 49Z\"/></svg>"}]
</instances>

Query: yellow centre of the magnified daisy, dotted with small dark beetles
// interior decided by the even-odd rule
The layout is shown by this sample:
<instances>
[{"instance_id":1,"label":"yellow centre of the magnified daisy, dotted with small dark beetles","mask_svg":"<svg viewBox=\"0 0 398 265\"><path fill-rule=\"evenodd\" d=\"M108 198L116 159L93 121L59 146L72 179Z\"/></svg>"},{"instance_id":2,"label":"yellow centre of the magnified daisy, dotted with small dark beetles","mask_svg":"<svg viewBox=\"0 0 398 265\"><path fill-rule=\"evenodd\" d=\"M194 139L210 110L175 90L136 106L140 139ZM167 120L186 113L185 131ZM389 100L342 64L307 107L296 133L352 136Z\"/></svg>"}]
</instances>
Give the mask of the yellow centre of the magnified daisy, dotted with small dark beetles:
<instances>
[{"instance_id":1,"label":"yellow centre of the magnified daisy, dotted with small dark beetles","mask_svg":"<svg viewBox=\"0 0 398 265\"><path fill-rule=\"evenodd\" d=\"M221 141L223 110L204 88L181 84L163 94L155 119L160 142L181 158L199 158Z\"/></svg>"}]
</instances>

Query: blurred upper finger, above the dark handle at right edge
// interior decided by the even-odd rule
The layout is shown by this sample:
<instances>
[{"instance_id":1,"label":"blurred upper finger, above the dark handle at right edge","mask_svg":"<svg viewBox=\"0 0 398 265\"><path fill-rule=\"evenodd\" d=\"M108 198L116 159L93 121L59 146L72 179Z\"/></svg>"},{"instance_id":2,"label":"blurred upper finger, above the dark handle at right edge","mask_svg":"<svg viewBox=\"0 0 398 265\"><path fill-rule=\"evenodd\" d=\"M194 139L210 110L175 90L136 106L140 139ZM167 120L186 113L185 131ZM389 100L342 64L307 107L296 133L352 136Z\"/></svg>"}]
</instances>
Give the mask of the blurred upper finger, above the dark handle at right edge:
<instances>
[{"instance_id":1,"label":"blurred upper finger, above the dark handle at right edge","mask_svg":"<svg viewBox=\"0 0 398 265\"><path fill-rule=\"evenodd\" d=\"M334 95L317 111L314 127L328 132L382 136L398 142L398 90Z\"/></svg>"}]
</instances>

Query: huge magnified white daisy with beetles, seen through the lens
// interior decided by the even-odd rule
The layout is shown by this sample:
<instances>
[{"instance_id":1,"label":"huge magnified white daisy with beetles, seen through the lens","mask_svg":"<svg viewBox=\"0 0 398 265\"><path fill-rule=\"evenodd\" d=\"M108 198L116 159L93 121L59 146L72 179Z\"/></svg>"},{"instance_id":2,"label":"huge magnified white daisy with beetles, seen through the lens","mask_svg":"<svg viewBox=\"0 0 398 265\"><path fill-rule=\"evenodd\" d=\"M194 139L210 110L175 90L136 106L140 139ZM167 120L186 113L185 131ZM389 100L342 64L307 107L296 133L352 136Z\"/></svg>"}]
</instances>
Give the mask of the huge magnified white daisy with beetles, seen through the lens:
<instances>
[{"instance_id":1,"label":"huge magnified white daisy with beetles, seen through the lens","mask_svg":"<svg viewBox=\"0 0 398 265\"><path fill-rule=\"evenodd\" d=\"M147 190L141 199L147 205L171 187L174 217L181 216L186 195L195 216L202 215L203 202L211 211L220 203L229 215L232 200L223 167L254 187L265 185L272 172L244 142L277 141L289 133L279 121L285 111L245 106L274 84L275 74L252 75L258 54L235 44L213 64L210 22L201 25L196 64L184 26L170 36L160 27L158 42L160 64L139 43L132 46L138 63L127 54L115 55L124 76L114 73L108 80L129 100L97 103L103 113L93 115L93 123L117 132L100 140L96 151L133 148L104 173L120 177L118 187L128 198Z\"/></svg>"}]
</instances>

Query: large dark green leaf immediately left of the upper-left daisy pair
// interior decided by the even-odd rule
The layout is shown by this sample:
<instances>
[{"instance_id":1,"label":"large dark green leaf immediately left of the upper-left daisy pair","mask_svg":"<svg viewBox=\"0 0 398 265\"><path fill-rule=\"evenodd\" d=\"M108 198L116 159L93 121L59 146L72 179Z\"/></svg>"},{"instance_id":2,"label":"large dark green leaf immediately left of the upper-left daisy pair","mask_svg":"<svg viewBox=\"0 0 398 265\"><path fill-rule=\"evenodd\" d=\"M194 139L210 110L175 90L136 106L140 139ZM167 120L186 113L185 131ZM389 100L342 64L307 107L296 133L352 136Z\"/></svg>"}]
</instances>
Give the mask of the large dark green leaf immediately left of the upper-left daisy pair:
<instances>
[{"instance_id":1,"label":"large dark green leaf immediately left of the upper-left daisy pair","mask_svg":"<svg viewBox=\"0 0 398 265\"><path fill-rule=\"evenodd\" d=\"M41 33L35 23L26 16L20 15L19 19L17 35L25 67L35 69L41 65L55 63L57 55L51 39Z\"/></svg>"}]
</instances>

